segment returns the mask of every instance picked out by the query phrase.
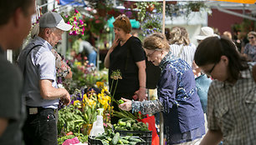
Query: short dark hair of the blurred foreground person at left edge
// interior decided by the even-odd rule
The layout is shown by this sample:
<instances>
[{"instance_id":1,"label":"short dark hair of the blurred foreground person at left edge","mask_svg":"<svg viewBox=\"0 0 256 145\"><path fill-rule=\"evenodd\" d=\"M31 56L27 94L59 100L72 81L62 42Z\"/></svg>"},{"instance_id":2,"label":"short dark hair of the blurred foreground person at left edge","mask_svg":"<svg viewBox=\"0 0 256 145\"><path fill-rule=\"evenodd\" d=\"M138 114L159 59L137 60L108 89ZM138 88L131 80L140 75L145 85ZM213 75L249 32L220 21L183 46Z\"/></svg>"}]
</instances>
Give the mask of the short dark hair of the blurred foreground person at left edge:
<instances>
[{"instance_id":1,"label":"short dark hair of the blurred foreground person at left edge","mask_svg":"<svg viewBox=\"0 0 256 145\"><path fill-rule=\"evenodd\" d=\"M0 0L0 26L8 23L9 18L18 7L21 7L23 14L28 15L28 7L34 4L34 0Z\"/></svg>"}]
</instances>

